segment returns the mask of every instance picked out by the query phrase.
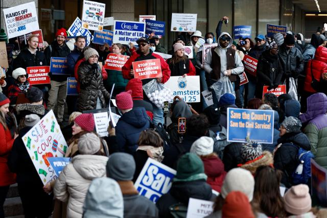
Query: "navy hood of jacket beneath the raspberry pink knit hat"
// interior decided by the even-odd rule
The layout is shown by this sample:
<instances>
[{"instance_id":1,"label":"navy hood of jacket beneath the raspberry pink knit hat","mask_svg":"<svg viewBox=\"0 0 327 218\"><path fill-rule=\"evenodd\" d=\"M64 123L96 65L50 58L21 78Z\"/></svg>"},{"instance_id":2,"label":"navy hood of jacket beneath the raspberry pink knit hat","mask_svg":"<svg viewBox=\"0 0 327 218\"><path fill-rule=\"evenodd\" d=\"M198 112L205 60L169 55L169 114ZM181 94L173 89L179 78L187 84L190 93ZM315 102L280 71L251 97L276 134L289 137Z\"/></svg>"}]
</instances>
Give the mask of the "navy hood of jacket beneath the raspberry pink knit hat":
<instances>
[{"instance_id":1,"label":"navy hood of jacket beneath the raspberry pink knit hat","mask_svg":"<svg viewBox=\"0 0 327 218\"><path fill-rule=\"evenodd\" d=\"M149 120L144 107L133 108L131 111L124 113L121 119L136 128L144 127Z\"/></svg>"}]
</instances>

